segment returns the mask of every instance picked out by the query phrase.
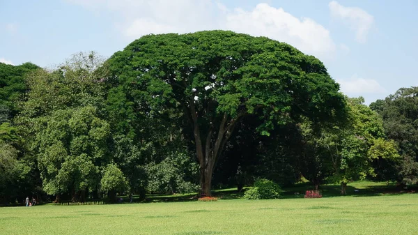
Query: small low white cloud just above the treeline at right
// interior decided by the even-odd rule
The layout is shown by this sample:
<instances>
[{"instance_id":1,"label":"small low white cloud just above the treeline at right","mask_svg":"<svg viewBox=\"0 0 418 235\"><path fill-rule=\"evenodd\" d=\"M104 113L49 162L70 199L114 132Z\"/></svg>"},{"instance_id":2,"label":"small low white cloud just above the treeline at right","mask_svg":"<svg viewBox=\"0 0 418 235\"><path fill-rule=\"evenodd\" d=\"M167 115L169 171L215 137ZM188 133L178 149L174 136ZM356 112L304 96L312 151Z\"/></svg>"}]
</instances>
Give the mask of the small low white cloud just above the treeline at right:
<instances>
[{"instance_id":1,"label":"small low white cloud just above the treeline at right","mask_svg":"<svg viewBox=\"0 0 418 235\"><path fill-rule=\"evenodd\" d=\"M375 79L364 79L353 75L350 79L336 79L340 84L340 89L348 95L363 95L371 93L385 93L383 88Z\"/></svg>"}]
</instances>

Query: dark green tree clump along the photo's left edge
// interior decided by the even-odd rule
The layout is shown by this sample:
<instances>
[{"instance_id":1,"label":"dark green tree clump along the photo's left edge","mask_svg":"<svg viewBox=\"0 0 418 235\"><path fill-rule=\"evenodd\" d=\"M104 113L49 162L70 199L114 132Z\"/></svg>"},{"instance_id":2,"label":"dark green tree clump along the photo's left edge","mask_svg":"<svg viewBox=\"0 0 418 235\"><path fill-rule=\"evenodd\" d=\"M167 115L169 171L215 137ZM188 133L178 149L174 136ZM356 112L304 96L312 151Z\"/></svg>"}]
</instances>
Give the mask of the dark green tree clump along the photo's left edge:
<instances>
[{"instance_id":1,"label":"dark green tree clump along the photo's left edge","mask_svg":"<svg viewBox=\"0 0 418 235\"><path fill-rule=\"evenodd\" d=\"M0 203L20 202L36 193L37 169L23 159L24 139L15 125L17 103L27 91L26 73L39 67L33 63L12 66L0 63Z\"/></svg>"}]
</instances>

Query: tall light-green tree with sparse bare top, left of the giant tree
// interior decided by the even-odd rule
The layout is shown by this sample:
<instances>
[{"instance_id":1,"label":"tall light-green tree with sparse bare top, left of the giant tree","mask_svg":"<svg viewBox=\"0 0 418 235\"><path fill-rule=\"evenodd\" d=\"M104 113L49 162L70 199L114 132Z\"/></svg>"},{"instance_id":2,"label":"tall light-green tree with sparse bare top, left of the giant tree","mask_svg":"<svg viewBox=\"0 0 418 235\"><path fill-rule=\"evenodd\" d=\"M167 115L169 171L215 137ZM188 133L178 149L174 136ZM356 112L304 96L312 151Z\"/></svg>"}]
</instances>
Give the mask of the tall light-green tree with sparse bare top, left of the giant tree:
<instances>
[{"instance_id":1,"label":"tall light-green tree with sparse bare top, left of the giant tree","mask_svg":"<svg viewBox=\"0 0 418 235\"><path fill-rule=\"evenodd\" d=\"M49 195L83 199L98 188L100 167L111 162L110 127L104 119L106 68L93 52L75 54L59 68L37 70L19 122L29 154Z\"/></svg>"}]
</instances>

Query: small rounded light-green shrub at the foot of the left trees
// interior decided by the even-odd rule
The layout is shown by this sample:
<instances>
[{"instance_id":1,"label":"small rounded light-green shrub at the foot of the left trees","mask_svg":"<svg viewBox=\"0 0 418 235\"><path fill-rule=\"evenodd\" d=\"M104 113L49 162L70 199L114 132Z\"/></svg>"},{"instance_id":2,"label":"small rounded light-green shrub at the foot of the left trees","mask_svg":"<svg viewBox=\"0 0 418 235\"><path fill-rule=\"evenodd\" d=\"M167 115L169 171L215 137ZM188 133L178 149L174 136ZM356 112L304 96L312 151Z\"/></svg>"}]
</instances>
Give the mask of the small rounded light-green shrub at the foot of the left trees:
<instances>
[{"instance_id":1,"label":"small rounded light-green shrub at the foot of the left trees","mask_svg":"<svg viewBox=\"0 0 418 235\"><path fill-rule=\"evenodd\" d=\"M104 192L109 192L110 190L125 192L129 188L129 185L121 169L114 164L109 164L103 170L100 188Z\"/></svg>"}]
</instances>

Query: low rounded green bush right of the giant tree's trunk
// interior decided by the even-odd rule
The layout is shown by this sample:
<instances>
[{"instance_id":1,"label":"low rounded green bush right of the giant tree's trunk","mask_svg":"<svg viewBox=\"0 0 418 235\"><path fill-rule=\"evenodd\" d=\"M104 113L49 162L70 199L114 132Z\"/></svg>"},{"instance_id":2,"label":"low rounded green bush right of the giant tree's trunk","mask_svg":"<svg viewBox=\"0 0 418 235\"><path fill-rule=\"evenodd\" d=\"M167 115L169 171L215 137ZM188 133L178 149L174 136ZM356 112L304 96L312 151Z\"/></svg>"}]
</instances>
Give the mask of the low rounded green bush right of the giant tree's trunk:
<instances>
[{"instance_id":1,"label":"low rounded green bush right of the giant tree's trunk","mask_svg":"<svg viewBox=\"0 0 418 235\"><path fill-rule=\"evenodd\" d=\"M258 179L254 187L245 191L245 199L276 199L280 197L281 188L268 179Z\"/></svg>"}]
</instances>

